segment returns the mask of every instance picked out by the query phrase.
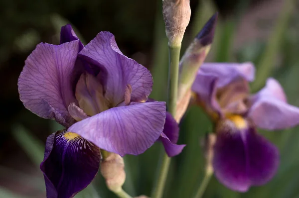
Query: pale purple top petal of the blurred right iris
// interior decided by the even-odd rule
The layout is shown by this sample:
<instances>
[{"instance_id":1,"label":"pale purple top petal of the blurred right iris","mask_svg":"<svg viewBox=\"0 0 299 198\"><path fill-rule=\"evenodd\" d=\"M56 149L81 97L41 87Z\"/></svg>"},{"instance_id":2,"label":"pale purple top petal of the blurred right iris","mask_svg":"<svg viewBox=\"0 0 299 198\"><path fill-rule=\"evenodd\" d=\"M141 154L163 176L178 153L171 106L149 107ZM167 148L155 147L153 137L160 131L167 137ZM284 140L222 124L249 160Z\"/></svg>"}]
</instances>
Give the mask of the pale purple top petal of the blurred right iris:
<instances>
[{"instance_id":1,"label":"pale purple top petal of the blurred right iris","mask_svg":"<svg viewBox=\"0 0 299 198\"><path fill-rule=\"evenodd\" d=\"M218 77L218 88L224 87L238 78L243 78L246 81L252 82L255 75L254 65L250 62L203 63L199 70L204 74Z\"/></svg>"}]
</instances>

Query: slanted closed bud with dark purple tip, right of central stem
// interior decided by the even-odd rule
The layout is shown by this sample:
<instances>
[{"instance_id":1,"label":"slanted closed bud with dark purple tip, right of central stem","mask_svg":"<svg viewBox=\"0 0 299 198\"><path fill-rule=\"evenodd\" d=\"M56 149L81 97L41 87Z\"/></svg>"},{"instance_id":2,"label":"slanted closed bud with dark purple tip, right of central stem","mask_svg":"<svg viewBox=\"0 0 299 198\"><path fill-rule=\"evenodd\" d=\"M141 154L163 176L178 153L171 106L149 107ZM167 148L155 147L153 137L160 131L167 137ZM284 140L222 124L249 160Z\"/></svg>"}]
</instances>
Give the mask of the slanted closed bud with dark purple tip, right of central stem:
<instances>
[{"instance_id":1,"label":"slanted closed bud with dark purple tip, right of central stem","mask_svg":"<svg viewBox=\"0 0 299 198\"><path fill-rule=\"evenodd\" d=\"M215 13L196 35L179 63L178 97L175 120L180 121L191 98L191 86L205 60L214 38L218 13Z\"/></svg>"}]
</instances>

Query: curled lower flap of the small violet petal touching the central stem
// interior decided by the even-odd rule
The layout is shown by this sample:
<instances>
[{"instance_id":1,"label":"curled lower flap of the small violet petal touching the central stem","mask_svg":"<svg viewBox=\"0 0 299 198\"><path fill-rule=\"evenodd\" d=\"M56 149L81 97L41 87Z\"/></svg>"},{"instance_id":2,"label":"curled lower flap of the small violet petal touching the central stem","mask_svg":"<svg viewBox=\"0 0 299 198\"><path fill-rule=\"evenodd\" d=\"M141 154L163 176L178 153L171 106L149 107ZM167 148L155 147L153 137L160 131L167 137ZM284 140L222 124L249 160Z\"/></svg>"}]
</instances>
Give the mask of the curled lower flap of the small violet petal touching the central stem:
<instances>
[{"instance_id":1,"label":"curled lower flap of the small violet petal touching the central stem","mask_svg":"<svg viewBox=\"0 0 299 198\"><path fill-rule=\"evenodd\" d=\"M176 156L180 154L183 150L183 148L186 146L185 144L175 144L169 140L169 138L162 133L161 136L159 137L159 140L162 141L162 144L164 146L165 152L169 157Z\"/></svg>"}]
</instances>

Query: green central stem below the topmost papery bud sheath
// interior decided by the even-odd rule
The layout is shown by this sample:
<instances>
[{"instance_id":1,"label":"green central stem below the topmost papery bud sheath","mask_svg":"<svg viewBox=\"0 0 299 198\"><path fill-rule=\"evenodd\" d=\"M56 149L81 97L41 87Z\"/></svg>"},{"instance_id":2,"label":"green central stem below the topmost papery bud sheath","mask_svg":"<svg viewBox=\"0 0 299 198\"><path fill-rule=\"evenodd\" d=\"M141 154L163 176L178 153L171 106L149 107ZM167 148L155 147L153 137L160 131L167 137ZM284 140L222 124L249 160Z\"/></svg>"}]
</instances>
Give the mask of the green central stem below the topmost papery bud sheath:
<instances>
[{"instance_id":1,"label":"green central stem below the topmost papery bud sheath","mask_svg":"<svg viewBox=\"0 0 299 198\"><path fill-rule=\"evenodd\" d=\"M178 84L178 65L179 65L179 53L181 46L169 46L169 72L168 72L168 111L172 116L176 112L176 100L177 100L177 84ZM164 152L164 151L163 151ZM170 158L163 154L162 163L160 166L157 182L152 194L152 198L161 198L167 179L167 174L170 165Z\"/></svg>"}]
</instances>

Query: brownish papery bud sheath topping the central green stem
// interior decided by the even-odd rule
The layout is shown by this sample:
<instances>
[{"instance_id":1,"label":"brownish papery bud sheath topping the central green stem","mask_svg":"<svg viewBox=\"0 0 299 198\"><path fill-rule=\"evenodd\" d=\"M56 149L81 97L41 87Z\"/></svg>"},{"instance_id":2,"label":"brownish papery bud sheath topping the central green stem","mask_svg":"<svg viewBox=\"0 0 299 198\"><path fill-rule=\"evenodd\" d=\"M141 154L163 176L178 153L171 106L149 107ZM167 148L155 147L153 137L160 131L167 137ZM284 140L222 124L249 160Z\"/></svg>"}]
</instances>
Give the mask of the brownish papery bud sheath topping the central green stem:
<instances>
[{"instance_id":1,"label":"brownish papery bud sheath topping the central green stem","mask_svg":"<svg viewBox=\"0 0 299 198\"><path fill-rule=\"evenodd\" d=\"M169 46L180 46L190 21L189 0L163 0L163 18Z\"/></svg>"}]
</instances>

